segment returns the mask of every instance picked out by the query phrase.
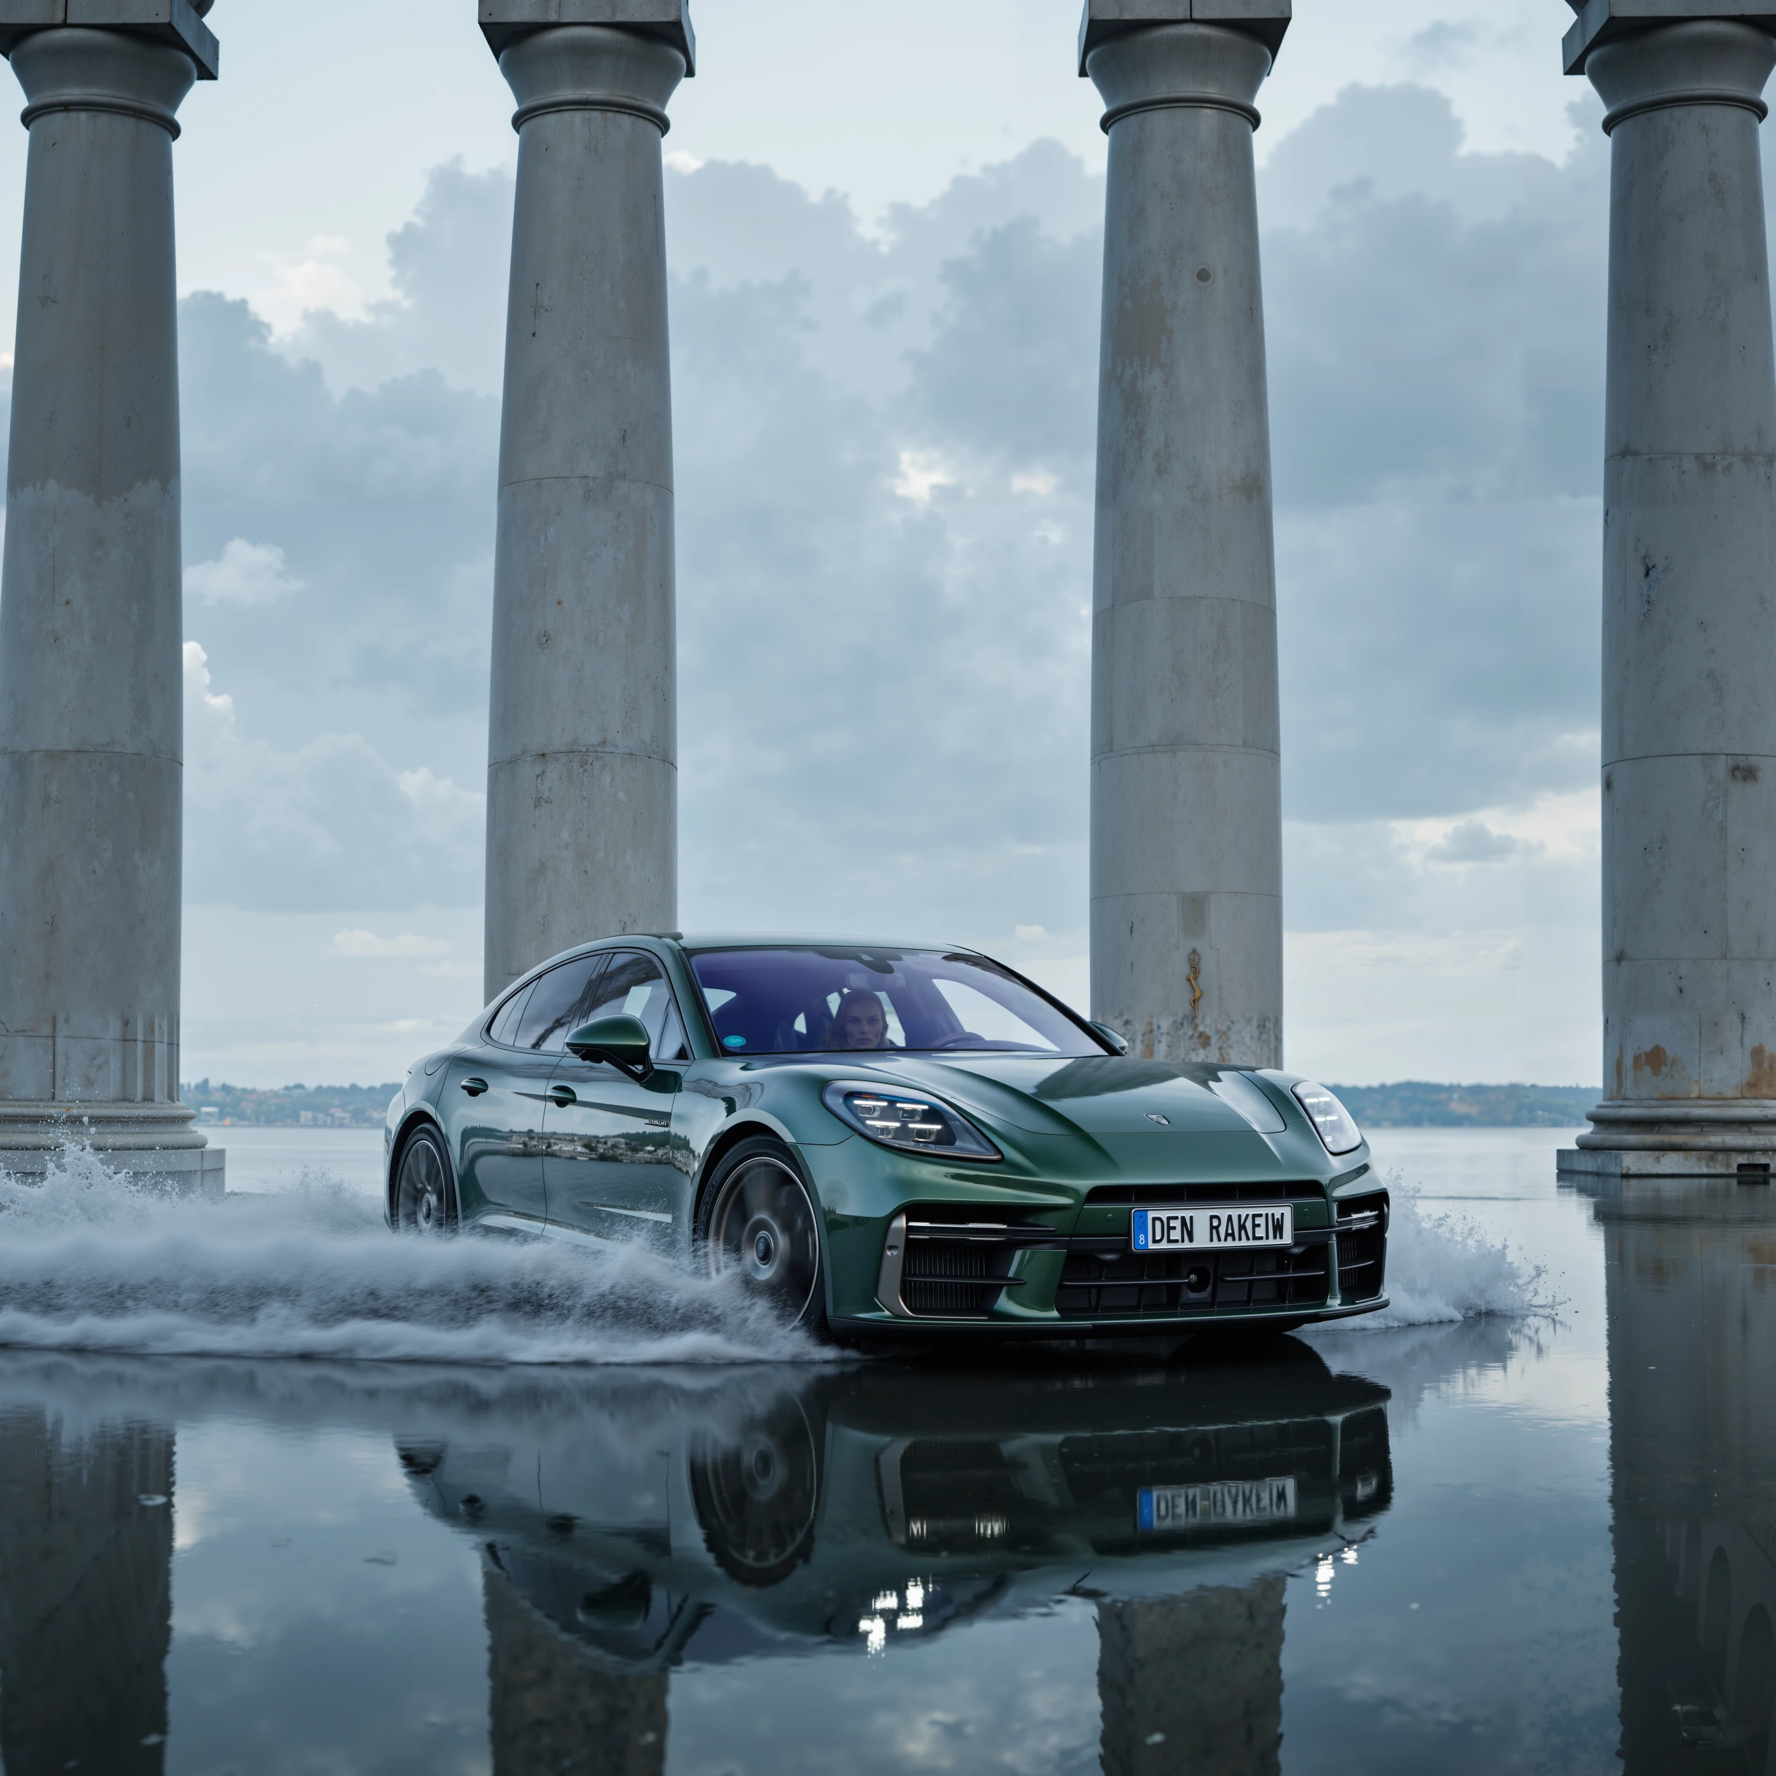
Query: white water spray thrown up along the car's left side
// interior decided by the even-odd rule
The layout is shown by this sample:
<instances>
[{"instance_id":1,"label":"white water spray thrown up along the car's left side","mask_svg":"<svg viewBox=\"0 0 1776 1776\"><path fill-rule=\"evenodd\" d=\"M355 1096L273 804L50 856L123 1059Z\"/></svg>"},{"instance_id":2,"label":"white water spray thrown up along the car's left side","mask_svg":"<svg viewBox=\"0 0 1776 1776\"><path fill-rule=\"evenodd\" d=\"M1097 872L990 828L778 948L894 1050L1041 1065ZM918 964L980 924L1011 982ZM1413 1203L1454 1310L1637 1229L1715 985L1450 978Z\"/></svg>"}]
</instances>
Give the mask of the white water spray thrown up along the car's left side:
<instances>
[{"instance_id":1,"label":"white water spray thrown up along the car's left side","mask_svg":"<svg viewBox=\"0 0 1776 1776\"><path fill-rule=\"evenodd\" d=\"M639 1247L396 1238L339 1181L204 1202L69 1146L0 1174L0 1344L396 1362L796 1362L829 1355Z\"/></svg>"}]
</instances>

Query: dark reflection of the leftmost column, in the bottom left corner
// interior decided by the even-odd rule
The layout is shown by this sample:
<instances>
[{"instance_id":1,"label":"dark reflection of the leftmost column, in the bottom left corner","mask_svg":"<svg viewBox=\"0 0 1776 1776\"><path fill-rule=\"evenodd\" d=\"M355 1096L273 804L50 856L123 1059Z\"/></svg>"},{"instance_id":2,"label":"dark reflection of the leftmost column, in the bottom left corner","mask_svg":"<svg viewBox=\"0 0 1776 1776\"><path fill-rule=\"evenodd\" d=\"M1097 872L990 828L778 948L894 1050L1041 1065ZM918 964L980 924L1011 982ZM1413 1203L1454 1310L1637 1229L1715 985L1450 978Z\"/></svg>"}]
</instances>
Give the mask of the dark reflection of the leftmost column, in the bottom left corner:
<instances>
[{"instance_id":1,"label":"dark reflection of the leftmost column, in the bottom left corner","mask_svg":"<svg viewBox=\"0 0 1776 1776\"><path fill-rule=\"evenodd\" d=\"M162 1769L172 1431L0 1414L0 1769Z\"/></svg>"}]
</instances>

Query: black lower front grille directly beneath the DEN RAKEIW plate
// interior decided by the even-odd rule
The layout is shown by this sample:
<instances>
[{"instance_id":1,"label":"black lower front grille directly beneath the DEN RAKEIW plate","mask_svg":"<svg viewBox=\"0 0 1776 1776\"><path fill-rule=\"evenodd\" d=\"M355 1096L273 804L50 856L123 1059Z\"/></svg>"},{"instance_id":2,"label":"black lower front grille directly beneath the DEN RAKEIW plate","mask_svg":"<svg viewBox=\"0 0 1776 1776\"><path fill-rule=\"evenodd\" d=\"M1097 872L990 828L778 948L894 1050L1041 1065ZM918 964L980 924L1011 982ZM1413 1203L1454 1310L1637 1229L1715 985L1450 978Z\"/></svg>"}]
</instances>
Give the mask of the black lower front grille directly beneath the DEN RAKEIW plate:
<instances>
[{"instance_id":1,"label":"black lower front grille directly beneath the DEN RAKEIW plate","mask_svg":"<svg viewBox=\"0 0 1776 1776\"><path fill-rule=\"evenodd\" d=\"M1074 1247L1101 1241L1074 1241ZM1122 1320L1241 1307L1323 1307L1327 1249L1233 1252L1071 1250L1055 1289L1062 1320Z\"/></svg>"}]
</instances>

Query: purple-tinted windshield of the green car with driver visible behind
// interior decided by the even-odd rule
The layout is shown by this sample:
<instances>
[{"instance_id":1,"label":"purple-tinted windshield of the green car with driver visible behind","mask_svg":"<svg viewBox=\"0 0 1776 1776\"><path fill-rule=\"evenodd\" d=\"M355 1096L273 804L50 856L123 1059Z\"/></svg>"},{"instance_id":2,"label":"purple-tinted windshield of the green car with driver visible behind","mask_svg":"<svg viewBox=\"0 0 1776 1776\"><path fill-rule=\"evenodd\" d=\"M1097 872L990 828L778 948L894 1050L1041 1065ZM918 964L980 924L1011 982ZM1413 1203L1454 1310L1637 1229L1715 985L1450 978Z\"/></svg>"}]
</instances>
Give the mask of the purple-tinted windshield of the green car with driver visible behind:
<instances>
[{"instance_id":1,"label":"purple-tinted windshield of the green car with driver visible behind","mask_svg":"<svg viewBox=\"0 0 1776 1776\"><path fill-rule=\"evenodd\" d=\"M984 955L810 943L696 950L691 968L730 1055L1105 1053L1073 1018Z\"/></svg>"}]
</instances>

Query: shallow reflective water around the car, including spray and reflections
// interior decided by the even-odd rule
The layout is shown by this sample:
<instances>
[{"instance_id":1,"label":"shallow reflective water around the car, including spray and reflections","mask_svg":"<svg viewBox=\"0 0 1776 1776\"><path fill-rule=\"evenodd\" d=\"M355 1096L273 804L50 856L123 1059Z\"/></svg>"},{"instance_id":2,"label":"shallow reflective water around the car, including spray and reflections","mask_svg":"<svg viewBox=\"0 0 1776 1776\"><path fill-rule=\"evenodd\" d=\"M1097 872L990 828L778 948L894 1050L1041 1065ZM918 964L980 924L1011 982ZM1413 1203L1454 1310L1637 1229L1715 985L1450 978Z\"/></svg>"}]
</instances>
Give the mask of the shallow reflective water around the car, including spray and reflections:
<instances>
[{"instance_id":1,"label":"shallow reflective water around the car, including spray and reflections","mask_svg":"<svg viewBox=\"0 0 1776 1776\"><path fill-rule=\"evenodd\" d=\"M313 1174L0 1186L0 1762L1764 1769L1776 1209L1565 1138L1376 1135L1417 1323L1245 1357L840 1362Z\"/></svg>"}]
</instances>

